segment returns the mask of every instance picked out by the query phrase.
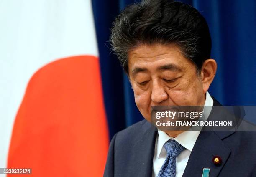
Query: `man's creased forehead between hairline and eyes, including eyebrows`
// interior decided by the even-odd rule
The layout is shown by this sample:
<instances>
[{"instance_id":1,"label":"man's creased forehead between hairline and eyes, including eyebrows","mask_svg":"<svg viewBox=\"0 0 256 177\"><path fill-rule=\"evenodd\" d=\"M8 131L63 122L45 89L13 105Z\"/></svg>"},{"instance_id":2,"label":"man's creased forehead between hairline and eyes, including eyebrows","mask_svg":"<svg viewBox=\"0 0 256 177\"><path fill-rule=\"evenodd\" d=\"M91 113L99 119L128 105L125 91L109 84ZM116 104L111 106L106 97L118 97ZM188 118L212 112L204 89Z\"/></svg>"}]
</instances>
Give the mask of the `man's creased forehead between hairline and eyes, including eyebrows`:
<instances>
[{"instance_id":1,"label":"man's creased forehead between hairline and eyes, including eyebrows","mask_svg":"<svg viewBox=\"0 0 256 177\"><path fill-rule=\"evenodd\" d=\"M184 58L179 47L174 44L143 44L128 52L128 68L131 74L163 70L183 71L191 66L195 68L194 63Z\"/></svg>"}]
</instances>

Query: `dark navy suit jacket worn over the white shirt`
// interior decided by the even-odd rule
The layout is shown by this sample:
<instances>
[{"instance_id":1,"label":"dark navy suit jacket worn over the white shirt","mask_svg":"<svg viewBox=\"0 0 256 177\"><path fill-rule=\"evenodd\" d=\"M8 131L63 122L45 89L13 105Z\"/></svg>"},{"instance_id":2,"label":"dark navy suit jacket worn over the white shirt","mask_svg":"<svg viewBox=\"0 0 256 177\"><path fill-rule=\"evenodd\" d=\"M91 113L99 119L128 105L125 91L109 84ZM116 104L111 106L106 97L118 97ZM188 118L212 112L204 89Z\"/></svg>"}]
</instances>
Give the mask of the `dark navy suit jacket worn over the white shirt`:
<instances>
[{"instance_id":1,"label":"dark navy suit jacket worn over the white shirt","mask_svg":"<svg viewBox=\"0 0 256 177\"><path fill-rule=\"evenodd\" d=\"M214 99L214 105L220 103ZM214 109L207 121L226 117ZM151 177L156 135L146 120L115 134L104 177ZM212 162L215 155L222 159L219 166ZM201 131L183 177L202 177L203 168L210 168L209 177L256 177L256 131Z\"/></svg>"}]
</instances>

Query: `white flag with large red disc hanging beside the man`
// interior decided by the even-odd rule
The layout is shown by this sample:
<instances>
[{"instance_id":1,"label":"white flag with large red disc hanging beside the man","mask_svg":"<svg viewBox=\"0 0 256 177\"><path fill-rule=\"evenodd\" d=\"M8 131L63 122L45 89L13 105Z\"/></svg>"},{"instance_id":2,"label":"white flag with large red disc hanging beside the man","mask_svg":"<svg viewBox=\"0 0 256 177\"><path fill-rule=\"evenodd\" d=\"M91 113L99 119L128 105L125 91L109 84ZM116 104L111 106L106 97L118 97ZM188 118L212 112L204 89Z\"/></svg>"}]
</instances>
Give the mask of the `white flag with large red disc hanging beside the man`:
<instances>
[{"instance_id":1,"label":"white flag with large red disc hanging beside the man","mask_svg":"<svg viewBox=\"0 0 256 177\"><path fill-rule=\"evenodd\" d=\"M0 24L0 168L102 176L109 142L91 1L1 1Z\"/></svg>"}]
</instances>

